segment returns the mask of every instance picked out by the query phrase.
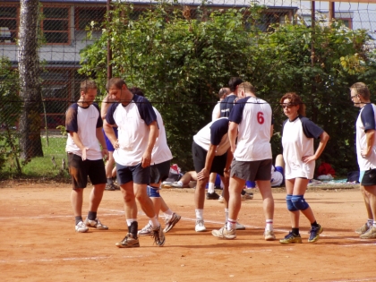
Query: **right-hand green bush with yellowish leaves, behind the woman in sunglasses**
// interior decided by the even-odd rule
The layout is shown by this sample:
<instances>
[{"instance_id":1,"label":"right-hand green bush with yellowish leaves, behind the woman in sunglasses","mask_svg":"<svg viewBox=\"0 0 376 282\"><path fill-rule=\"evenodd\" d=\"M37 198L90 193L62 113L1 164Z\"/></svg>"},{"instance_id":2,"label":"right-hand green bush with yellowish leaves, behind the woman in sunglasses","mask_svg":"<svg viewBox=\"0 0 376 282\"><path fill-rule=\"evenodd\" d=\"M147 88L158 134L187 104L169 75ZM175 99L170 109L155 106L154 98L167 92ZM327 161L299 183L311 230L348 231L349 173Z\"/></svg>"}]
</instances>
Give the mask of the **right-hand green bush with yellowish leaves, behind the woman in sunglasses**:
<instances>
[{"instance_id":1,"label":"right-hand green bush with yellowish leaves, behind the woman in sunglasses","mask_svg":"<svg viewBox=\"0 0 376 282\"><path fill-rule=\"evenodd\" d=\"M257 46L251 47L252 65L257 67L246 76L272 103L289 91L301 95L307 116L330 135L322 158L334 165L338 174L346 175L357 169L354 124L358 111L348 88L355 81L374 88L375 54L365 30L347 30L341 22L334 22L330 27L317 25L313 31L303 24L287 23L261 34ZM278 132L286 116L279 107L275 109L277 138L272 141L277 153L281 150Z\"/></svg>"}]
</instances>

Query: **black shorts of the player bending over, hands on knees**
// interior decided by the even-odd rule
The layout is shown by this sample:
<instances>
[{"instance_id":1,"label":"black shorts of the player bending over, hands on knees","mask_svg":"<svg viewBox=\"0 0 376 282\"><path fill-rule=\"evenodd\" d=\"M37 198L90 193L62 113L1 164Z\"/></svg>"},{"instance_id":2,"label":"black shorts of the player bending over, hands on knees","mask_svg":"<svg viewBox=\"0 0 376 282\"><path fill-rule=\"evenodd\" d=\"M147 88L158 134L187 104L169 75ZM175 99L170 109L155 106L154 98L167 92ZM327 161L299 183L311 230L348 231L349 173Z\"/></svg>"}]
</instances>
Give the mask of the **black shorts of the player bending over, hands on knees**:
<instances>
[{"instance_id":1,"label":"black shorts of the player bending over, hands on knees","mask_svg":"<svg viewBox=\"0 0 376 282\"><path fill-rule=\"evenodd\" d=\"M206 155L208 151L201 148L197 145L195 141L192 142L192 156L193 156L193 165L197 173L201 172L202 168L205 167ZM218 175L223 176L223 171L226 167L227 161L227 152L222 156L215 156L213 162L211 163L210 173L214 172Z\"/></svg>"}]
</instances>

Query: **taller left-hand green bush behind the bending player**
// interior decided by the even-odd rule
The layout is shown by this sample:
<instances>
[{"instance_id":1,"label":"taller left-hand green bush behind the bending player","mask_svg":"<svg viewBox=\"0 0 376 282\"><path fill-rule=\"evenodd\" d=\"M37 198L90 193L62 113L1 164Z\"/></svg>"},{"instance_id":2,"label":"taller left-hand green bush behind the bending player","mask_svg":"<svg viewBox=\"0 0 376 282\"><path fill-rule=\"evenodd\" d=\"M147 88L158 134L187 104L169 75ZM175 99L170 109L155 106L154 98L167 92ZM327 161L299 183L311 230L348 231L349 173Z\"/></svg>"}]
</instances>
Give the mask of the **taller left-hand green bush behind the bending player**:
<instances>
[{"instance_id":1,"label":"taller left-hand green bush behind the bending player","mask_svg":"<svg viewBox=\"0 0 376 282\"><path fill-rule=\"evenodd\" d=\"M192 169L192 135L209 122L220 87L243 73L244 50L250 43L243 15L258 18L258 11L210 11L202 6L191 18L187 8L160 4L134 21L132 5L116 4L102 38L81 52L80 72L106 84L110 38L113 75L145 90L163 115L179 165Z\"/></svg>"}]
</instances>

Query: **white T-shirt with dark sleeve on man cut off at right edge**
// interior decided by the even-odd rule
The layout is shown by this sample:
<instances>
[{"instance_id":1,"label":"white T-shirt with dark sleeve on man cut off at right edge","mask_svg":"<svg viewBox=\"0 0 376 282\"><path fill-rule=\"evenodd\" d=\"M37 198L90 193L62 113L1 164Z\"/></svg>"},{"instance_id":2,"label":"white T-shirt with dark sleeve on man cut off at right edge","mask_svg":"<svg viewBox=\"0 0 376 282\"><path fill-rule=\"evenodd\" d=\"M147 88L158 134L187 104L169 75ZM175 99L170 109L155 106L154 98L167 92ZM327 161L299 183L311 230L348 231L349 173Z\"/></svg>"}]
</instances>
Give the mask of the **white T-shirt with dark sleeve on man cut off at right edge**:
<instances>
[{"instance_id":1,"label":"white T-shirt with dark sleeve on man cut off at right edge","mask_svg":"<svg viewBox=\"0 0 376 282\"><path fill-rule=\"evenodd\" d=\"M374 104L366 104L360 110L356 120L356 157L358 159L359 169L361 171L369 170L376 167L376 138L373 141L371 154L367 158L363 158L361 154L362 148L367 145L365 132L367 130L376 129L376 106Z\"/></svg>"}]
</instances>

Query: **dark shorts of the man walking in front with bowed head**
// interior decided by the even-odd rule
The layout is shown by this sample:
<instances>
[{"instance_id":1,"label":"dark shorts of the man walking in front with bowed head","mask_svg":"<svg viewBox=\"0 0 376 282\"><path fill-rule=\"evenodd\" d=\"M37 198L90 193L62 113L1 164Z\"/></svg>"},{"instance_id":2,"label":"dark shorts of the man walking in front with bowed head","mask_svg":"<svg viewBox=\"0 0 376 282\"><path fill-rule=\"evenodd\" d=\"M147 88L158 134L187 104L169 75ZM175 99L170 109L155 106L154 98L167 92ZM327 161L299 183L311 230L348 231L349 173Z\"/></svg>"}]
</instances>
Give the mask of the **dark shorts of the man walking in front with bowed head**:
<instances>
[{"instance_id":1,"label":"dark shorts of the man walking in front with bowed head","mask_svg":"<svg viewBox=\"0 0 376 282\"><path fill-rule=\"evenodd\" d=\"M150 167L141 167L141 163L132 167L116 163L116 173L120 185L131 181L134 184L150 184Z\"/></svg>"}]
</instances>

